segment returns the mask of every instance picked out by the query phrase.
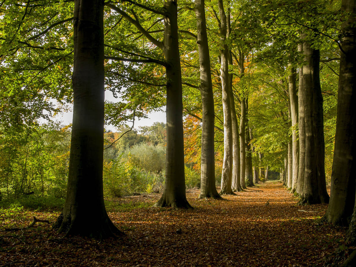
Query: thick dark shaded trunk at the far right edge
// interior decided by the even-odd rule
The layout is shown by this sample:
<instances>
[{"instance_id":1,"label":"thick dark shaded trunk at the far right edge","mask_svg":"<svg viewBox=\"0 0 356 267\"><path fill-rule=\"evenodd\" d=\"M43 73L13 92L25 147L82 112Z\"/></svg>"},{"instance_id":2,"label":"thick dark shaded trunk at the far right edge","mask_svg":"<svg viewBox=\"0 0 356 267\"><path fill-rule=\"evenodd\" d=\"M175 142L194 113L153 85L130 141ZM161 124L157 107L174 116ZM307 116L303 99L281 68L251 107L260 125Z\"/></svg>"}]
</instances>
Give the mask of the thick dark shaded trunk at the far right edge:
<instances>
[{"instance_id":1,"label":"thick dark shaded trunk at the far right edge","mask_svg":"<svg viewBox=\"0 0 356 267\"><path fill-rule=\"evenodd\" d=\"M324 215L329 223L347 225L352 221L349 241L356 244L356 1L343 0L341 9L350 17L341 25L341 60L333 172L331 173L330 203Z\"/></svg>"}]
</instances>

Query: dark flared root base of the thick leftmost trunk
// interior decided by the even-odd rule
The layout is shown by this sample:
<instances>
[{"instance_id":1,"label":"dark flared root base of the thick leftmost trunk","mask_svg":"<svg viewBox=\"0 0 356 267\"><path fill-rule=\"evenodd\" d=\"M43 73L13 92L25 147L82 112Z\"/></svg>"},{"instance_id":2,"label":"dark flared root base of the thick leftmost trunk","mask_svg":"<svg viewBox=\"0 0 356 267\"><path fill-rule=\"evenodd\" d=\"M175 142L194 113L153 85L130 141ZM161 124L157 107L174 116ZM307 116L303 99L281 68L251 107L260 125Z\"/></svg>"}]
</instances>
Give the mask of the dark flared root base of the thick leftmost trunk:
<instances>
[{"instance_id":1,"label":"dark flared root base of the thick leftmost trunk","mask_svg":"<svg viewBox=\"0 0 356 267\"><path fill-rule=\"evenodd\" d=\"M124 232L116 228L107 215L102 220L72 222L70 216L64 220L63 213L61 213L53 225L53 230L64 233L65 237L83 236L99 240L125 235Z\"/></svg>"}]
</instances>

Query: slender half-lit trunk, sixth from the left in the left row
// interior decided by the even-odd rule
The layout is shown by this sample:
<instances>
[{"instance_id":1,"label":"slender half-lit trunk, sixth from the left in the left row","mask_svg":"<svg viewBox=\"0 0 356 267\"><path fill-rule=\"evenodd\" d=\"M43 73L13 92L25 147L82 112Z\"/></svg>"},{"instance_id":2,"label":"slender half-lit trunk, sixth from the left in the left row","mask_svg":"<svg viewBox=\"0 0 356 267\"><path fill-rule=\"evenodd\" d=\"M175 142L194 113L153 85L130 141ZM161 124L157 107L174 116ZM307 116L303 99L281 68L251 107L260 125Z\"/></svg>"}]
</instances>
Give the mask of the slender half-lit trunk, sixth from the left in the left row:
<instances>
[{"instance_id":1,"label":"slender half-lit trunk, sixth from the left in the left row","mask_svg":"<svg viewBox=\"0 0 356 267\"><path fill-rule=\"evenodd\" d=\"M241 187L246 189L245 177L246 177L246 138L245 138L245 125L246 125L246 102L245 99L241 99L241 116L240 116L240 162L241 173L240 181Z\"/></svg>"}]
</instances>

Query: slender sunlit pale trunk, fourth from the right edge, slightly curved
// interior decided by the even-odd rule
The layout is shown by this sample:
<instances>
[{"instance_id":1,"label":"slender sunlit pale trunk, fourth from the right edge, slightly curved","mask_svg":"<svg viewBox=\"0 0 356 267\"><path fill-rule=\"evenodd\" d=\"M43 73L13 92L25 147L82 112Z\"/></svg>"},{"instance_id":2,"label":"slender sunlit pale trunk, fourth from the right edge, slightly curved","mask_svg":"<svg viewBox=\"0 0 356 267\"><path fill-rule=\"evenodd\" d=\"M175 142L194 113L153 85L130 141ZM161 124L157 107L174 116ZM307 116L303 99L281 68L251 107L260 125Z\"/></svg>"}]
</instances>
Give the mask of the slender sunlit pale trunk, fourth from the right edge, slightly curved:
<instances>
[{"instance_id":1,"label":"slender sunlit pale trunk, fourth from the right edge, slightly curved","mask_svg":"<svg viewBox=\"0 0 356 267\"><path fill-rule=\"evenodd\" d=\"M290 103L290 117L292 120L292 190L294 193L297 188L299 171L299 141L298 141L298 96L296 77L297 71L292 64L289 64L290 73L288 75L288 90Z\"/></svg>"}]
</instances>

